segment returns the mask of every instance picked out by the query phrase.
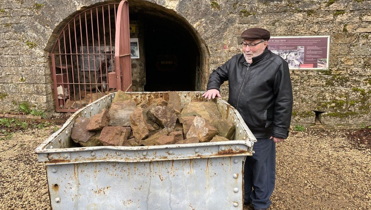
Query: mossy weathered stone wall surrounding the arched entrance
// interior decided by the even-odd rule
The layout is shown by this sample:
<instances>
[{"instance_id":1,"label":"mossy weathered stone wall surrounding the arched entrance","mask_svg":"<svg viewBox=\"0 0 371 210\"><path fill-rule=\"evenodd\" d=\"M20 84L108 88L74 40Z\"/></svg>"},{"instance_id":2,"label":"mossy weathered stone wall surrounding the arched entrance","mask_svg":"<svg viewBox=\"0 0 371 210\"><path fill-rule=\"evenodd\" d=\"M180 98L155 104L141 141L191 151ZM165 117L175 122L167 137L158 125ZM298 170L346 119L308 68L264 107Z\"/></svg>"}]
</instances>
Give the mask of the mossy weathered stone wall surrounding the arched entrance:
<instances>
[{"instance_id":1,"label":"mossy weathered stone wall surrounding the arched entrance","mask_svg":"<svg viewBox=\"0 0 371 210\"><path fill-rule=\"evenodd\" d=\"M53 110L50 47L72 14L102 2L1 1L1 110L14 110L13 103L22 101L29 101L39 109ZM209 73L234 54L241 53L239 35L249 27L266 28L272 36L330 35L328 71L291 71L293 123L313 123L313 110L318 110L326 111L322 114L322 122L326 124L370 124L370 0L130 2L158 4L183 17L208 47ZM222 90L226 98L226 84Z\"/></svg>"}]
</instances>

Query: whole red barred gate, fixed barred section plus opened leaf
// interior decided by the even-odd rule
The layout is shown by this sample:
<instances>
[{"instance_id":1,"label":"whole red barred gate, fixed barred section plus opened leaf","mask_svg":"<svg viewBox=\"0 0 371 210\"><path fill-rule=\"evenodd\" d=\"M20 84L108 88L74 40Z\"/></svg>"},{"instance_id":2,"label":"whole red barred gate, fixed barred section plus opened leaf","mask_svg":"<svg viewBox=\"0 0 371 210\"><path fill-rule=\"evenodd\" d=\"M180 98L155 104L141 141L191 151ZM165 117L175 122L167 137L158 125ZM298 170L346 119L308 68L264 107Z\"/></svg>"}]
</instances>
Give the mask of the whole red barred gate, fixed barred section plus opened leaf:
<instances>
[{"instance_id":1,"label":"whole red barred gate, fixed barred section plus opened leaf","mask_svg":"<svg viewBox=\"0 0 371 210\"><path fill-rule=\"evenodd\" d=\"M56 111L74 112L105 94L131 91L129 40L127 0L73 17L50 53Z\"/></svg>"}]
</instances>

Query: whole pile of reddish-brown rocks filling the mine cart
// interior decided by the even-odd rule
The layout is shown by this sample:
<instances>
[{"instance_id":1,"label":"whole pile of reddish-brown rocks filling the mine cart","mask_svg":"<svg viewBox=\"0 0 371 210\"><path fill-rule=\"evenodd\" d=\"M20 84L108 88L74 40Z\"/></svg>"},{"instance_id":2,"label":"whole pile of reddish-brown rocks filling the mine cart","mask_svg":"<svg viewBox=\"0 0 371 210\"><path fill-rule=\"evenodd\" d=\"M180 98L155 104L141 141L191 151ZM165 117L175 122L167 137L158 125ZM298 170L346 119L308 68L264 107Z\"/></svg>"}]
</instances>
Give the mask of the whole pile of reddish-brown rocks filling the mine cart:
<instances>
[{"instance_id":1,"label":"whole pile of reddish-brown rocks filling the mine cart","mask_svg":"<svg viewBox=\"0 0 371 210\"><path fill-rule=\"evenodd\" d=\"M215 103L192 101L181 109L180 97L168 92L168 101L159 98L137 104L118 91L109 110L91 119L78 117L71 138L81 146L152 146L213 141L234 137L234 124L221 119Z\"/></svg>"}]
</instances>

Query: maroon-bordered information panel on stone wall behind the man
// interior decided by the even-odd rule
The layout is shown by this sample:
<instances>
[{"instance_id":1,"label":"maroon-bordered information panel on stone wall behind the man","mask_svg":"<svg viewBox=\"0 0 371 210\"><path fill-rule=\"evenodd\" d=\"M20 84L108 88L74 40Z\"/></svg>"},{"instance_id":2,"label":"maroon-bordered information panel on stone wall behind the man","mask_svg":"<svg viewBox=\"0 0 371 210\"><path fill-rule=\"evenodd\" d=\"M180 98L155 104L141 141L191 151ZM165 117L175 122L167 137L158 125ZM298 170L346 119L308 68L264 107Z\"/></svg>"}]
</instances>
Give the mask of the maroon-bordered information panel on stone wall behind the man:
<instances>
[{"instance_id":1,"label":"maroon-bordered information panel on stone wall behind the man","mask_svg":"<svg viewBox=\"0 0 371 210\"><path fill-rule=\"evenodd\" d=\"M327 70L330 36L273 36L268 49L281 56L292 70Z\"/></svg>"}]
</instances>

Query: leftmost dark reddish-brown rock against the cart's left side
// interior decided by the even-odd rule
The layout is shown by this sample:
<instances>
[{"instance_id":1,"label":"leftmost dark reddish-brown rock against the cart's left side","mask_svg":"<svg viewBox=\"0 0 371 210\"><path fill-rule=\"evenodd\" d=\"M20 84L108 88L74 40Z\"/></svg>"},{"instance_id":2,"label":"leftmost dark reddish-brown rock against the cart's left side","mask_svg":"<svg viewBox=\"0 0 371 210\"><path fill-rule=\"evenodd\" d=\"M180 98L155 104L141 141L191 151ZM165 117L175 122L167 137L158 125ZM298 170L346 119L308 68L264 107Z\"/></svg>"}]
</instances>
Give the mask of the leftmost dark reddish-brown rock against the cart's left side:
<instances>
[{"instance_id":1,"label":"leftmost dark reddish-brown rock against the cart's left side","mask_svg":"<svg viewBox=\"0 0 371 210\"><path fill-rule=\"evenodd\" d=\"M90 119L84 117L78 117L73 124L71 138L76 143L79 143L83 147L95 147L102 146L102 143L95 136L95 131L86 130L86 126L89 124Z\"/></svg>"}]
</instances>

